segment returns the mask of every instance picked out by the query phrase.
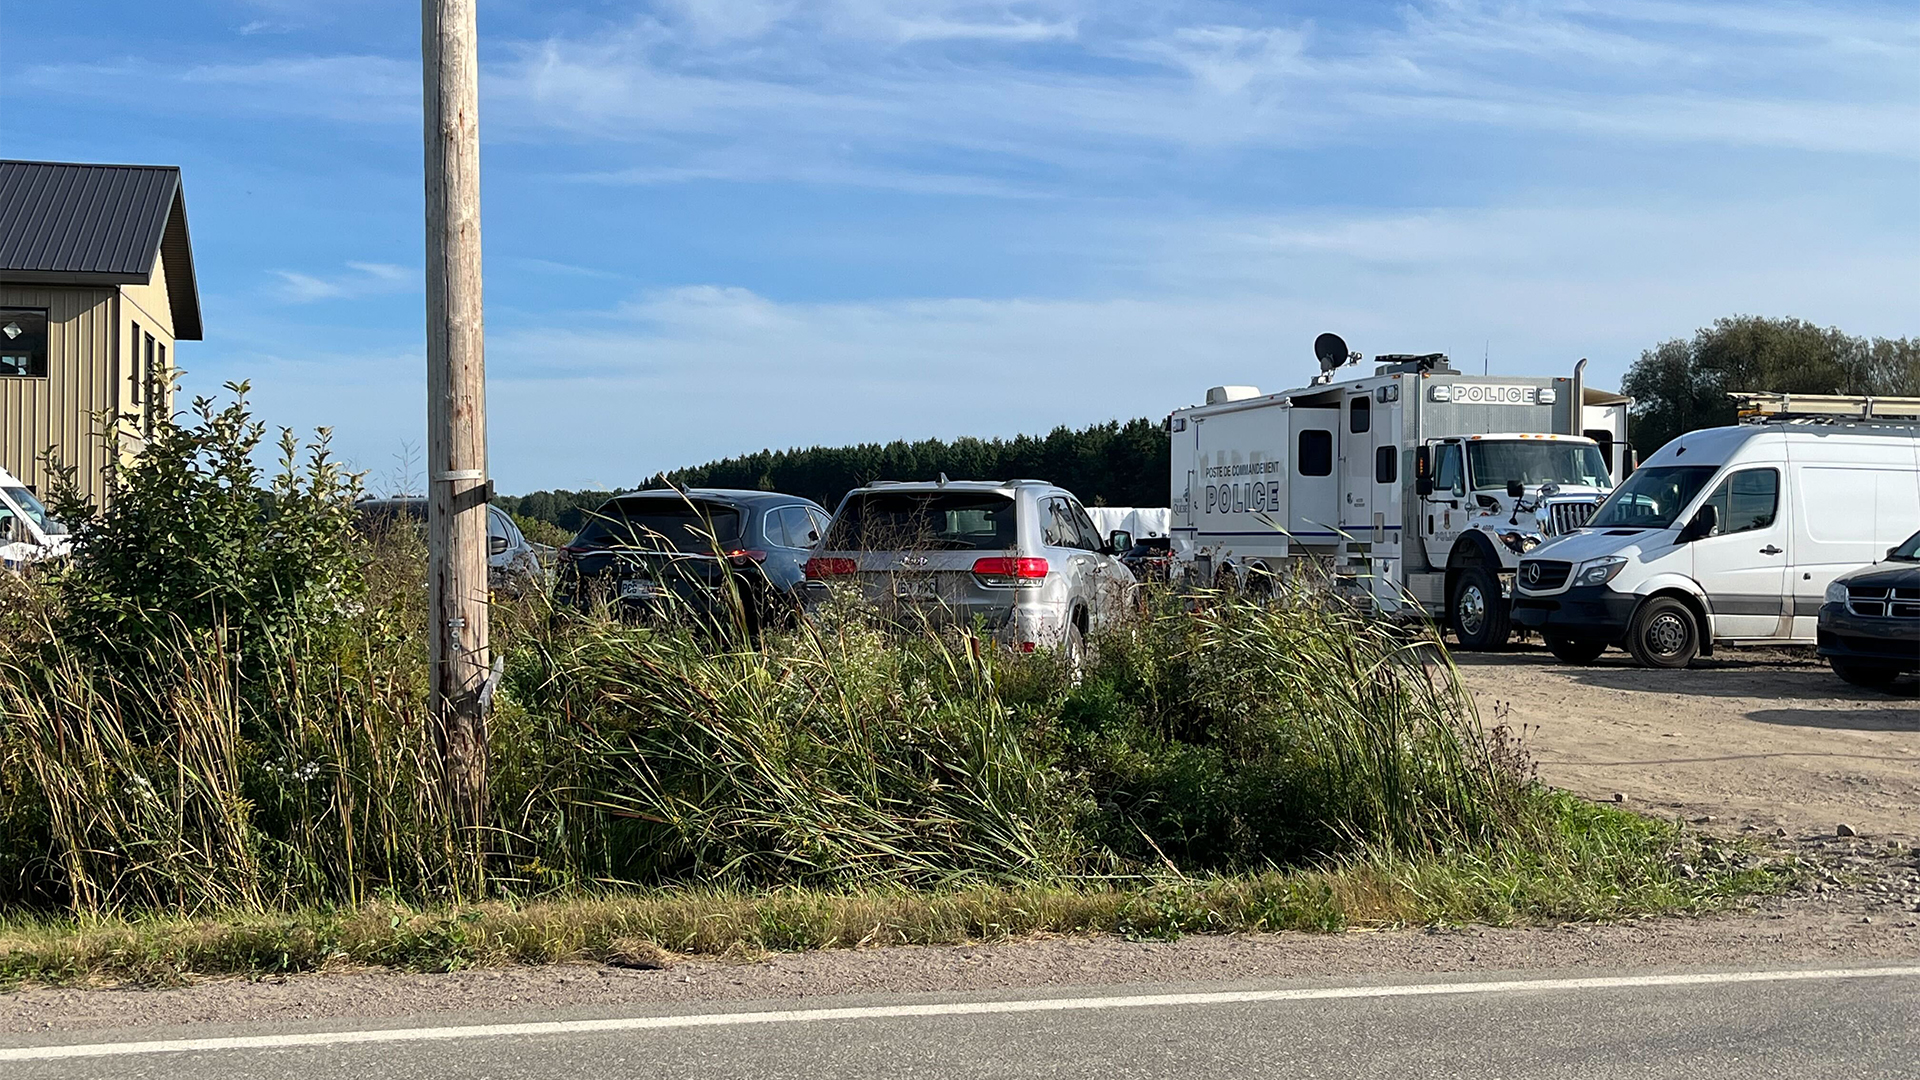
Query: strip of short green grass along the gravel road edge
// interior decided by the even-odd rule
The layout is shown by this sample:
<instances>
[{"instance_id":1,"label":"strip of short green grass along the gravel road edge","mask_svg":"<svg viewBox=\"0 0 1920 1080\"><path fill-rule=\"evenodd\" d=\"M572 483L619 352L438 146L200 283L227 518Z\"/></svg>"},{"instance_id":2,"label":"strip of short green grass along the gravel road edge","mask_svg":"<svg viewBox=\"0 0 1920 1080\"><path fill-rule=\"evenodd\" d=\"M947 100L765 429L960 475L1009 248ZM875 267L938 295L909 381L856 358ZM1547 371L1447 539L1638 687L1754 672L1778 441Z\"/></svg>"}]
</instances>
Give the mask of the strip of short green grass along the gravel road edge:
<instances>
[{"instance_id":1,"label":"strip of short green grass along the gravel road edge","mask_svg":"<svg viewBox=\"0 0 1920 1080\"><path fill-rule=\"evenodd\" d=\"M799 949L956 945L1054 934L1334 932L1436 922L1597 920L1705 913L1793 874L1738 846L1567 796L1569 832L1544 859L1467 849L1206 878L960 890L637 890L622 896L275 915L83 917L0 922L0 986L144 984L349 967L457 970L607 961L637 944L751 959ZM1659 857L1647 857L1651 849Z\"/></svg>"}]
</instances>

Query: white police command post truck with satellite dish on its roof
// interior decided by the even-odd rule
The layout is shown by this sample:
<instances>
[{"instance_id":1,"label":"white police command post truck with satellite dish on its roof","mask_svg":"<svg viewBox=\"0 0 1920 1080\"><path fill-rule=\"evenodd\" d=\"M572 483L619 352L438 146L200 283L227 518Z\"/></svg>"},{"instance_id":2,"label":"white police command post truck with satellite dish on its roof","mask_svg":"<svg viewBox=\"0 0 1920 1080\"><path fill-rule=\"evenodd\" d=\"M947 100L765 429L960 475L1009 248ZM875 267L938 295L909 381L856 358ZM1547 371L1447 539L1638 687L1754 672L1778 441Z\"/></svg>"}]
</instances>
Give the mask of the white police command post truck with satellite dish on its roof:
<instances>
[{"instance_id":1,"label":"white police command post truck with satellite dish on its roof","mask_svg":"<svg viewBox=\"0 0 1920 1080\"><path fill-rule=\"evenodd\" d=\"M1382 615L1509 636L1521 555L1578 528L1626 473L1628 398L1571 377L1465 375L1444 354L1315 340L1298 390L1215 386L1167 417L1188 580L1261 592L1304 565Z\"/></svg>"}]
</instances>

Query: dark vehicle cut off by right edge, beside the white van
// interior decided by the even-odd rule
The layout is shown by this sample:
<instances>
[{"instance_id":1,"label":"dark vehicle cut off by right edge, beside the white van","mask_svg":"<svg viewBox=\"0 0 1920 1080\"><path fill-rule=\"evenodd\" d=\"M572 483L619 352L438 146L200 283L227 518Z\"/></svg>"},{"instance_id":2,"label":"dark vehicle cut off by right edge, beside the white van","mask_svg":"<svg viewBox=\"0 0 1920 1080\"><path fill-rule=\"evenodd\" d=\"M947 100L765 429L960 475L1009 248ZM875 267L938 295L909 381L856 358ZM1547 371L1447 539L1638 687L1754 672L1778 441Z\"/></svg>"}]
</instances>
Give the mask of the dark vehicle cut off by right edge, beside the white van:
<instances>
[{"instance_id":1,"label":"dark vehicle cut off by right edge, beside the white van","mask_svg":"<svg viewBox=\"0 0 1920 1080\"><path fill-rule=\"evenodd\" d=\"M1820 655L1855 686L1920 673L1920 532L1826 586Z\"/></svg>"}]
</instances>

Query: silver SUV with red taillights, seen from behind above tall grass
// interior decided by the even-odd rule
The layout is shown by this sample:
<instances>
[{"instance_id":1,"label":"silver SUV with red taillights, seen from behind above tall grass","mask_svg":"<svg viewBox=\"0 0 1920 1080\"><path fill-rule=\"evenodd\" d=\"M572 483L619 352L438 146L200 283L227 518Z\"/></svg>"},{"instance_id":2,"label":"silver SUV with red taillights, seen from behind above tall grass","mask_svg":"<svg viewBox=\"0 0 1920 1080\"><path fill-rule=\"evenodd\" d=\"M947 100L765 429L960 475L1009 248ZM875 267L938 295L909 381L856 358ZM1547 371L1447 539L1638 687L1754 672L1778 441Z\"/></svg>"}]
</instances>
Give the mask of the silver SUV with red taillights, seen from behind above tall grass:
<instances>
[{"instance_id":1,"label":"silver SUV with red taillights, seen from behind above tall grass","mask_svg":"<svg viewBox=\"0 0 1920 1080\"><path fill-rule=\"evenodd\" d=\"M1064 648L1133 609L1139 582L1073 492L1041 480L874 482L841 500L806 561L808 598L851 582L902 621L983 625L1000 642Z\"/></svg>"}]
</instances>

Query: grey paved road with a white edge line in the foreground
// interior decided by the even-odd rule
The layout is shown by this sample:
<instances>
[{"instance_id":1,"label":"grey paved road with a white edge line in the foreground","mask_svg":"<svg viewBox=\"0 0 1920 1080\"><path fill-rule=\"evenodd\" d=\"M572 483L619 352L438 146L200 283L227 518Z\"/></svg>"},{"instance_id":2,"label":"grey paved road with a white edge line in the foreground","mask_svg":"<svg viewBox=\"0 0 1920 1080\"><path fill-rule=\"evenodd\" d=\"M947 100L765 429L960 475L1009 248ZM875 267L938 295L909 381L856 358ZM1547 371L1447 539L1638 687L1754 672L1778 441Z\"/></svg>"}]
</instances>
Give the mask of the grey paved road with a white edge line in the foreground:
<instances>
[{"instance_id":1,"label":"grey paved road with a white edge line in the foreground","mask_svg":"<svg viewBox=\"0 0 1920 1080\"><path fill-rule=\"evenodd\" d=\"M1916 1076L1920 965L768 1001L447 1026L140 1030L0 1045L38 1078ZM83 1042L84 1040L84 1042ZM194 1042L177 1042L194 1040ZM46 1057L69 1055L69 1057Z\"/></svg>"}]
</instances>

